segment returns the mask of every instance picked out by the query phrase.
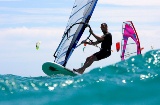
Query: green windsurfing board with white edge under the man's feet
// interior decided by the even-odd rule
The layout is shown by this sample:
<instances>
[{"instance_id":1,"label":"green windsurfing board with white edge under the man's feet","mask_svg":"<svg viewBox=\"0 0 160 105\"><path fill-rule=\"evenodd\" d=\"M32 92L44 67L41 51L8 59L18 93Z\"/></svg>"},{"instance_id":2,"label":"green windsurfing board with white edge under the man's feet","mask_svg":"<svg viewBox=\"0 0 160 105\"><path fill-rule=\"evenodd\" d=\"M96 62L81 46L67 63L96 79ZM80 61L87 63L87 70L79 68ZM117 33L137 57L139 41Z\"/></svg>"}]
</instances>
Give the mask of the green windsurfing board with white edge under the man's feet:
<instances>
[{"instance_id":1,"label":"green windsurfing board with white edge under the man's feet","mask_svg":"<svg viewBox=\"0 0 160 105\"><path fill-rule=\"evenodd\" d=\"M42 70L48 76L57 75L57 74L70 75L70 76L80 75L79 73L74 72L68 68L65 68L62 65L59 65L55 62L44 63L42 65Z\"/></svg>"}]
</instances>

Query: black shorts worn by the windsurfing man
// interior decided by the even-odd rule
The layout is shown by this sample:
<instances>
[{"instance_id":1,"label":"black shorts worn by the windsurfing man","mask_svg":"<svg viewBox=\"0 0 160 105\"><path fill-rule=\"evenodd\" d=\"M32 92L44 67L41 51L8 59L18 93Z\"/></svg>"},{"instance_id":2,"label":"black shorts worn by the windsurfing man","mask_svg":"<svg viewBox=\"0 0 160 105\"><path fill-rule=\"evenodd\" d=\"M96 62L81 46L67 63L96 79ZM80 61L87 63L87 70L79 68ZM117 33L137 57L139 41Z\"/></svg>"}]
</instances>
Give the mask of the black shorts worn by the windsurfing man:
<instances>
[{"instance_id":1,"label":"black shorts worn by the windsurfing man","mask_svg":"<svg viewBox=\"0 0 160 105\"><path fill-rule=\"evenodd\" d=\"M101 60L101 59L109 57L111 55L111 51L110 50L100 50L99 52L96 52L93 55L97 57L97 60Z\"/></svg>"}]
</instances>

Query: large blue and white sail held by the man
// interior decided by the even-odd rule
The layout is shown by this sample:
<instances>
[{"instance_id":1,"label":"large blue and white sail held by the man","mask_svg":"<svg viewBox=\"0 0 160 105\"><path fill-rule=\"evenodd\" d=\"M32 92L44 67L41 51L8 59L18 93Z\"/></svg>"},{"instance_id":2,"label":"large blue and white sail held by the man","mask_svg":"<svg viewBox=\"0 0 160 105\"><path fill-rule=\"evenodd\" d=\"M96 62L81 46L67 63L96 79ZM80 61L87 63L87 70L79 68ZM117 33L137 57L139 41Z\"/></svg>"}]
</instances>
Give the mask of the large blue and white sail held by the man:
<instances>
[{"instance_id":1,"label":"large blue and white sail held by the man","mask_svg":"<svg viewBox=\"0 0 160 105\"><path fill-rule=\"evenodd\" d=\"M54 53L54 62L66 66L67 61L86 28L86 23L89 22L97 1L98 0L75 1L62 40Z\"/></svg>"}]
</instances>

